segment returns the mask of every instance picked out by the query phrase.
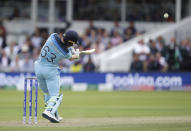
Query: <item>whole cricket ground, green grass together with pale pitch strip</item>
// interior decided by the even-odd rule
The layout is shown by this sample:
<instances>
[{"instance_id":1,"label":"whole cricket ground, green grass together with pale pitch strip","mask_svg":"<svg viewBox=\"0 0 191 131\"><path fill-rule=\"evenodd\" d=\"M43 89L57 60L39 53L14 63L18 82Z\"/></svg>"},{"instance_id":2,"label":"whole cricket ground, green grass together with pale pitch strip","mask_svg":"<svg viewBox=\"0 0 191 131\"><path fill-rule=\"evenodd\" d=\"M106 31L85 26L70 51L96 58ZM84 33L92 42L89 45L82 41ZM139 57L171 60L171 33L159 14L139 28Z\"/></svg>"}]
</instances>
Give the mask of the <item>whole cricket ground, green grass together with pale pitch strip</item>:
<instances>
[{"instance_id":1,"label":"whole cricket ground, green grass together with pale pitch strip","mask_svg":"<svg viewBox=\"0 0 191 131\"><path fill-rule=\"evenodd\" d=\"M0 130L191 130L191 92L62 92L59 113L63 122L52 124L41 117L44 103L39 90L39 123L23 125L23 92L0 90Z\"/></svg>"}]
</instances>

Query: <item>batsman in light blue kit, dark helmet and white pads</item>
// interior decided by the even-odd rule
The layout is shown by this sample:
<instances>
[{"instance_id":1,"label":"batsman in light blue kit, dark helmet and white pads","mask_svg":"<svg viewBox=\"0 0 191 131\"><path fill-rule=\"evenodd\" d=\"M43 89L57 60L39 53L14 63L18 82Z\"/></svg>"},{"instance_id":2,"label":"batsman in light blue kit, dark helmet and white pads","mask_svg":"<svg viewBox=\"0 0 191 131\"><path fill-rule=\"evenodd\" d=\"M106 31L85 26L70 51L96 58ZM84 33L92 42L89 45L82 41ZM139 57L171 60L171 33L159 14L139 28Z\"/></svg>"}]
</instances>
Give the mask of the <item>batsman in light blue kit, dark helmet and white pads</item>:
<instances>
[{"instance_id":1,"label":"batsman in light blue kit, dark helmet and white pads","mask_svg":"<svg viewBox=\"0 0 191 131\"><path fill-rule=\"evenodd\" d=\"M39 86L44 92L46 109L42 116L50 122L59 123L62 117L58 115L58 107L63 95L59 95L60 71L58 63L61 59L79 59L79 50L74 49L79 36L75 31L67 31L63 35L53 33L41 49L38 60L35 61L35 74Z\"/></svg>"}]
</instances>

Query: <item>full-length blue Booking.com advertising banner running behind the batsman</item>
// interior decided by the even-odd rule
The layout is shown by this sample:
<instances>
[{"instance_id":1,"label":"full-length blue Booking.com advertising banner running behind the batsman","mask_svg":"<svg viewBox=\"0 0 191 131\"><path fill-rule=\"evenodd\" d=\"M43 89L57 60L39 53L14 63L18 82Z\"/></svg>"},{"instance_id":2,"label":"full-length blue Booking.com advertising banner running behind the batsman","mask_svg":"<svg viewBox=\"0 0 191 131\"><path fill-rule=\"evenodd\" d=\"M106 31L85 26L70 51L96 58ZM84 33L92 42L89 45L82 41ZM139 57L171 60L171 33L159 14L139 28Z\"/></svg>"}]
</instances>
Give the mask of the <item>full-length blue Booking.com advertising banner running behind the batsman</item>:
<instances>
[{"instance_id":1,"label":"full-length blue Booking.com advertising banner running behind the batsman","mask_svg":"<svg viewBox=\"0 0 191 131\"><path fill-rule=\"evenodd\" d=\"M0 73L0 87L23 86L34 73ZM61 73L61 85L109 84L113 90L191 90L191 73Z\"/></svg>"}]
</instances>

